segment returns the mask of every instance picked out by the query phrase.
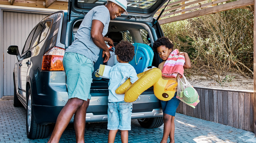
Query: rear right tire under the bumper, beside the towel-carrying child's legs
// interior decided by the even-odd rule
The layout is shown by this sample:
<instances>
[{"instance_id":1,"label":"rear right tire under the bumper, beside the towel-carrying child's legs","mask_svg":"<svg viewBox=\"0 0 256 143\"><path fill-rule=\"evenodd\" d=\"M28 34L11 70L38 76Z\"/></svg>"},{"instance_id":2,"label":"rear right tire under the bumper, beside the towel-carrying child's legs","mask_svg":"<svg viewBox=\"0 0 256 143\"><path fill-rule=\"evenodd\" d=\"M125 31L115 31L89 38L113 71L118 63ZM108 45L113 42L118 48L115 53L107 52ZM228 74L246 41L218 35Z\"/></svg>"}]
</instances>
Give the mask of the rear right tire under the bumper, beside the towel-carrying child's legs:
<instances>
[{"instance_id":1,"label":"rear right tire under the bumper, beside the towel-carrying child's legs","mask_svg":"<svg viewBox=\"0 0 256 143\"><path fill-rule=\"evenodd\" d=\"M163 117L138 119L138 122L143 128L158 128L163 124Z\"/></svg>"}]
</instances>

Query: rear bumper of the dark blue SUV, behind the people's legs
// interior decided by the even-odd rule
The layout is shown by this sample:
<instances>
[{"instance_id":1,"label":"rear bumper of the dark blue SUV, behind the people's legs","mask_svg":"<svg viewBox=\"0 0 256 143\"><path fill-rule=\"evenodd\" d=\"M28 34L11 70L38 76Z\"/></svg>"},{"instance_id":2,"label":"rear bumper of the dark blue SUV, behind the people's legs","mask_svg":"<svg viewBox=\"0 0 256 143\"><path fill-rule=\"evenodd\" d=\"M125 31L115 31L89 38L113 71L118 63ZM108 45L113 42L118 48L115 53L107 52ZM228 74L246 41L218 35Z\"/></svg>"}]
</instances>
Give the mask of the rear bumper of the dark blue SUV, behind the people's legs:
<instances>
[{"instance_id":1,"label":"rear bumper of the dark blue SUV, behind the people's legs","mask_svg":"<svg viewBox=\"0 0 256 143\"><path fill-rule=\"evenodd\" d=\"M92 96L87 108L87 122L107 121L107 100L107 96ZM62 108L63 106L32 105L32 111L38 124L55 123ZM132 119L154 118L162 115L161 104L152 94L140 95L140 98L133 102Z\"/></svg>"}]
</instances>

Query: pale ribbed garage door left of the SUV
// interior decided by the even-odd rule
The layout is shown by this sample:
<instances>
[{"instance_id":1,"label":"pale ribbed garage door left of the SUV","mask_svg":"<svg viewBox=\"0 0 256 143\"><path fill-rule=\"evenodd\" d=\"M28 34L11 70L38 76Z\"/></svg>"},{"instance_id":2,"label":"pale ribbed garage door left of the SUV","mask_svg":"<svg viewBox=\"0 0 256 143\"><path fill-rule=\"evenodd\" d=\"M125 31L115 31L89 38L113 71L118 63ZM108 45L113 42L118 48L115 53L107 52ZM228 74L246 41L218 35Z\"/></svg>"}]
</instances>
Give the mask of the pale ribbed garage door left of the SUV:
<instances>
[{"instance_id":1,"label":"pale ribbed garage door left of the SUV","mask_svg":"<svg viewBox=\"0 0 256 143\"><path fill-rule=\"evenodd\" d=\"M10 45L17 45L19 52L32 28L48 14L3 11L3 96L13 95L13 68L17 57L7 54ZM1 96L0 96L1 98Z\"/></svg>"}]
</instances>

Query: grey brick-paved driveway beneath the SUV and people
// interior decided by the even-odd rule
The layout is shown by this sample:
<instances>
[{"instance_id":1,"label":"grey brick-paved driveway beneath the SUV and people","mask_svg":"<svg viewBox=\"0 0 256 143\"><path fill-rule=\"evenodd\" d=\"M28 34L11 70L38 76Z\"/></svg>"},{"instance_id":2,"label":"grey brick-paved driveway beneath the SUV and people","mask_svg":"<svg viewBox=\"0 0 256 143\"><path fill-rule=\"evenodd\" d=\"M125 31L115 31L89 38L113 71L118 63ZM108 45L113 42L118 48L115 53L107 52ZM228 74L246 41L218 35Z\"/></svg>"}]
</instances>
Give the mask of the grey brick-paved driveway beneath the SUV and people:
<instances>
[{"instance_id":1,"label":"grey brick-paved driveway beneath the SUV and people","mask_svg":"<svg viewBox=\"0 0 256 143\"><path fill-rule=\"evenodd\" d=\"M44 139L28 139L26 135L26 110L23 107L13 107L13 100L0 100L0 143L34 143L47 142L50 136ZM175 141L176 143L255 143L253 132L233 128L230 126L197 119L176 113L175 118ZM132 130L129 131L131 143L156 143L160 142L163 126L155 129L145 129L139 126L137 120L132 120ZM86 124L85 142L107 142L107 123ZM70 124L60 142L75 142L75 131ZM120 132L117 133L116 142L121 142Z\"/></svg>"}]
</instances>

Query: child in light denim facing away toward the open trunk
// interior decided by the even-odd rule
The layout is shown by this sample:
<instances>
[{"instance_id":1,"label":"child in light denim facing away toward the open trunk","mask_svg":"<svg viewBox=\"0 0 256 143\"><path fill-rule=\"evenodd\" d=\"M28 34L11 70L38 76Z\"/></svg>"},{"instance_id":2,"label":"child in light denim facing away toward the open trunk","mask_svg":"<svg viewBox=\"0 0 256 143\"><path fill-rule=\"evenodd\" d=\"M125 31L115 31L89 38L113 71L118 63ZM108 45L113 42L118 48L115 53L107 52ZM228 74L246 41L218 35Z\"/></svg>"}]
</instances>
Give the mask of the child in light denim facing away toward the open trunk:
<instances>
[{"instance_id":1,"label":"child in light denim facing away toward the open trunk","mask_svg":"<svg viewBox=\"0 0 256 143\"><path fill-rule=\"evenodd\" d=\"M131 130L132 103L124 102L124 94L116 94L116 89L128 78L131 83L138 80L137 73L128 62L133 59L134 46L121 41L115 47L117 63L110 70L108 97L108 142L114 143L117 131L121 131L122 143L128 142L128 130Z\"/></svg>"}]
</instances>

